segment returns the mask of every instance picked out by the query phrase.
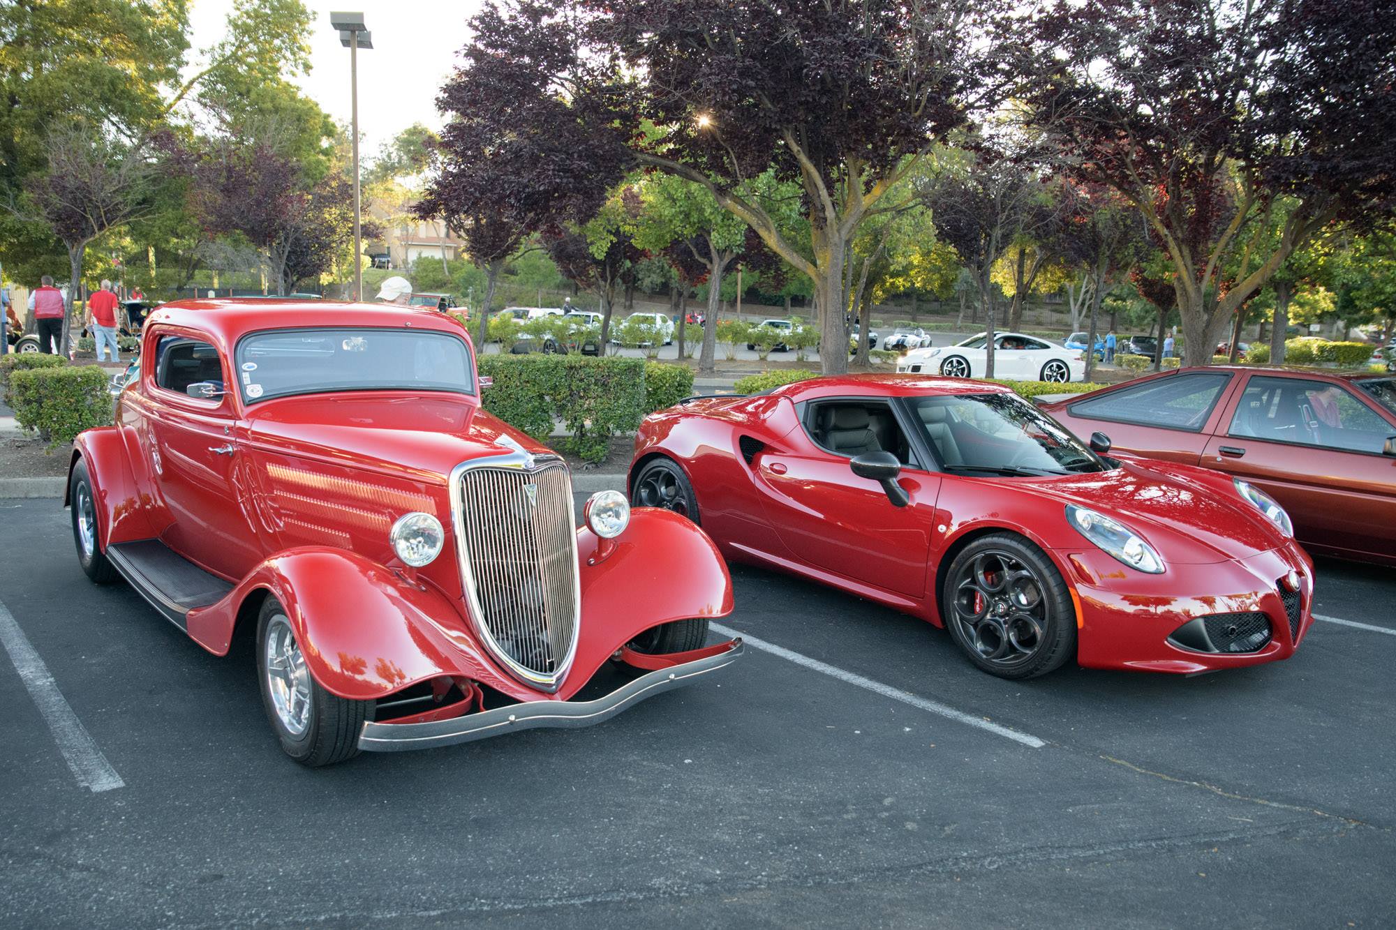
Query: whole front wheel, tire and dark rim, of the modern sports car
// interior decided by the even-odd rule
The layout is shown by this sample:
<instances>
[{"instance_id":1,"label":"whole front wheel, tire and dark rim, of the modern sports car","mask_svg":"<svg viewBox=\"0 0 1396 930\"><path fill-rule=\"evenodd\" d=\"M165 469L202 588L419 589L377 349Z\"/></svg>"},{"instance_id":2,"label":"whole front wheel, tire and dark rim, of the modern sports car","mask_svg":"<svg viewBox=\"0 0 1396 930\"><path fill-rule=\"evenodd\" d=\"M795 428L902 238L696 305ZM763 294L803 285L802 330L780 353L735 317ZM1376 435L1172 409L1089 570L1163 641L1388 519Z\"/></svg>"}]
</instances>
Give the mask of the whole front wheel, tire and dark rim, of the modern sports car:
<instances>
[{"instance_id":1,"label":"whole front wheel, tire and dark rim, of the modern sports car","mask_svg":"<svg viewBox=\"0 0 1396 930\"><path fill-rule=\"evenodd\" d=\"M940 606L969 660L1001 679L1034 679L1076 655L1071 591L1051 560L1018 533L981 536L960 550L945 573Z\"/></svg>"}]
</instances>

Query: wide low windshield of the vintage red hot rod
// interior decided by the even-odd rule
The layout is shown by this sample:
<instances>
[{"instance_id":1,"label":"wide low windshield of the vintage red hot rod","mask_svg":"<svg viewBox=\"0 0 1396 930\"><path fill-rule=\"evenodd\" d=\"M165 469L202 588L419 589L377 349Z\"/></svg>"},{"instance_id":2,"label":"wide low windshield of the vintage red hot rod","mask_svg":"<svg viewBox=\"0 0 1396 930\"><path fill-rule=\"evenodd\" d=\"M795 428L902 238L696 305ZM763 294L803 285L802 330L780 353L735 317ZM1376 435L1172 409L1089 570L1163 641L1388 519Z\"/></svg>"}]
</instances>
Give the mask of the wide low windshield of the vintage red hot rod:
<instances>
[{"instance_id":1,"label":"wide low windshield of the vintage red hot rod","mask_svg":"<svg viewBox=\"0 0 1396 930\"><path fill-rule=\"evenodd\" d=\"M448 332L271 330L237 344L244 402L325 391L475 392L465 342Z\"/></svg>"}]
</instances>

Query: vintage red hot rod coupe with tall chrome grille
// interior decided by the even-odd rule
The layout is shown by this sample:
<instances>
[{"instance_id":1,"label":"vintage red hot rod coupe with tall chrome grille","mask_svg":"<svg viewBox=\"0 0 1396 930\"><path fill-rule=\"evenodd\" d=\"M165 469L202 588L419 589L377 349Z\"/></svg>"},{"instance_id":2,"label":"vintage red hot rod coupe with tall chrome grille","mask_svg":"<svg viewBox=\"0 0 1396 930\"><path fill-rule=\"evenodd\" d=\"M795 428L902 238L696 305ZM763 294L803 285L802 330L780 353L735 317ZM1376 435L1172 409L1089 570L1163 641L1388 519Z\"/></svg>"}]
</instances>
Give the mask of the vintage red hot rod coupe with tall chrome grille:
<instances>
[{"instance_id":1,"label":"vintage red hot rod coupe with tall chrome grille","mask_svg":"<svg viewBox=\"0 0 1396 930\"><path fill-rule=\"evenodd\" d=\"M166 304L75 443L78 559L209 652L253 637L307 765L596 723L732 663L712 542L617 492L575 529L565 464L479 398L434 309Z\"/></svg>"}]
</instances>

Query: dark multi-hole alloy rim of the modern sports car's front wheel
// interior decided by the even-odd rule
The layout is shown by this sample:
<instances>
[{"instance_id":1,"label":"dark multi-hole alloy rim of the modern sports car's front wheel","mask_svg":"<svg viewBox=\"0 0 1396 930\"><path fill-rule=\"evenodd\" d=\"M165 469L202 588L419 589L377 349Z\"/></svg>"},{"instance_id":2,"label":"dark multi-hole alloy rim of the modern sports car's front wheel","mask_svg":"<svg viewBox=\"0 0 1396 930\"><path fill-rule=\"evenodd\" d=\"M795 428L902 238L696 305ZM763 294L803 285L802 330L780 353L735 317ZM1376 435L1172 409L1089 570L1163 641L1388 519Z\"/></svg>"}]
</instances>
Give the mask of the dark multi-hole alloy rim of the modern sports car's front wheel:
<instances>
[{"instance_id":1,"label":"dark multi-hole alloy rim of the modern sports car's front wheel","mask_svg":"<svg viewBox=\"0 0 1396 930\"><path fill-rule=\"evenodd\" d=\"M984 660L1013 667L1047 641L1046 585L1011 553L981 552L955 582L951 621Z\"/></svg>"}]
</instances>

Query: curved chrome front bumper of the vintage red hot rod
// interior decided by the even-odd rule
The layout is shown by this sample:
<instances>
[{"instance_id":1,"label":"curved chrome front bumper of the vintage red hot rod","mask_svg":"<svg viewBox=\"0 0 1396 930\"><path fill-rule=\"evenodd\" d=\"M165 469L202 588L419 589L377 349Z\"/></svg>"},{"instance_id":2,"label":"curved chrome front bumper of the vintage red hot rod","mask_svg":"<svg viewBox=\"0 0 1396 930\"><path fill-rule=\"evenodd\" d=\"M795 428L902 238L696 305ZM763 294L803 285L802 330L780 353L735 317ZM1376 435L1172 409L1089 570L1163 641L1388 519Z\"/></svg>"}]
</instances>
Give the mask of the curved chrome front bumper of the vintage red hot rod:
<instances>
[{"instance_id":1,"label":"curved chrome front bumper of the vintage red hot rod","mask_svg":"<svg viewBox=\"0 0 1396 930\"><path fill-rule=\"evenodd\" d=\"M595 701L526 701L429 723L369 722L359 733L359 748L366 753L403 753L470 743L539 726L574 728L602 723L645 698L692 684L699 677L732 665L743 654L744 647L740 638L726 645L729 648L716 655L642 674Z\"/></svg>"}]
</instances>

